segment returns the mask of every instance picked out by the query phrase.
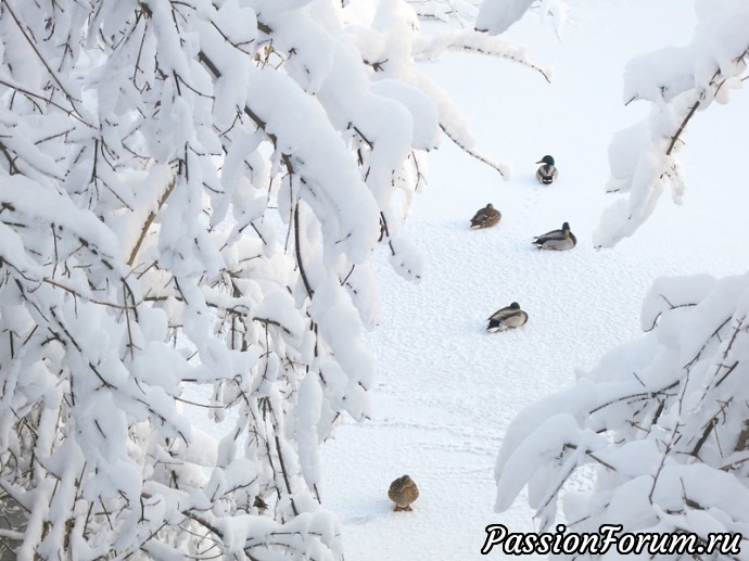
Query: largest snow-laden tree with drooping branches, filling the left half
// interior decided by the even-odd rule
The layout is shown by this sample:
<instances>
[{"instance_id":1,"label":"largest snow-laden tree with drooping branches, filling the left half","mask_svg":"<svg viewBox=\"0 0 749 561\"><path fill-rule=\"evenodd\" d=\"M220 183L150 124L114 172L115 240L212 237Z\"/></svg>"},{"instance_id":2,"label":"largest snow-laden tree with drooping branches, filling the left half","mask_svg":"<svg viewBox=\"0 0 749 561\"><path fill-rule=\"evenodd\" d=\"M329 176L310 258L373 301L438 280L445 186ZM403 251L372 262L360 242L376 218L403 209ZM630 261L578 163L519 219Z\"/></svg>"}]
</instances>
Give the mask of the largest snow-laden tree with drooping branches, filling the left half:
<instances>
[{"instance_id":1,"label":"largest snow-laden tree with drooping branches, filling the left half","mask_svg":"<svg viewBox=\"0 0 749 561\"><path fill-rule=\"evenodd\" d=\"M448 48L537 68L402 0L0 0L0 547L340 558L317 456L369 412L368 260L420 277L442 131L508 171L415 67Z\"/></svg>"}]
</instances>

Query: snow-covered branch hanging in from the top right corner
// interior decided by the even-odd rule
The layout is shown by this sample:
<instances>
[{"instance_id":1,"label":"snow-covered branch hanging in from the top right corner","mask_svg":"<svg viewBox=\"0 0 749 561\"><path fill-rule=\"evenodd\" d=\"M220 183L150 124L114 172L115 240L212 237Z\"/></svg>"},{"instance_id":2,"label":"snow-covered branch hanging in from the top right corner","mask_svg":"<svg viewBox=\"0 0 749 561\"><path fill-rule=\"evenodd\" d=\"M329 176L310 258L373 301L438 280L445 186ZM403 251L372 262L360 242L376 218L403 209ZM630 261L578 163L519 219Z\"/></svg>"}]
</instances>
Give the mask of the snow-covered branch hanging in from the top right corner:
<instances>
[{"instance_id":1,"label":"snow-covered branch hanging in from the top right corner","mask_svg":"<svg viewBox=\"0 0 749 561\"><path fill-rule=\"evenodd\" d=\"M696 3L700 23L686 47L668 47L638 56L624 73L624 100L650 102L644 122L618 132L609 146L610 193L629 193L601 217L596 246L609 247L632 235L670 187L681 203L685 191L676 157L689 122L713 102L726 103L741 88L749 58L749 8L746 2Z\"/></svg>"}]
</instances>

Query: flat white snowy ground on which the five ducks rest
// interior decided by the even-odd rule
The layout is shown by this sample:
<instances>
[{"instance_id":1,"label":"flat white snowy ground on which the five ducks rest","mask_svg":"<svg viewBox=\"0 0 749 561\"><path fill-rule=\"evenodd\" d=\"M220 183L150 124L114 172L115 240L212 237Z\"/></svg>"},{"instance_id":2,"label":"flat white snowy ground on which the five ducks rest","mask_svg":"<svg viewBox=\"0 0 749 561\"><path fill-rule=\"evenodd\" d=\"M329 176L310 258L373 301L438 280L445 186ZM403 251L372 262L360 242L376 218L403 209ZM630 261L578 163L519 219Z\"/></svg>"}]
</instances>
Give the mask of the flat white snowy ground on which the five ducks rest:
<instances>
[{"instance_id":1,"label":"flat white snowy ground on which the five ducks rest","mask_svg":"<svg viewBox=\"0 0 749 561\"><path fill-rule=\"evenodd\" d=\"M638 336L640 302L655 278L749 268L749 192L738 175L749 142L746 92L690 125L682 151L685 204L675 207L667 194L635 238L615 250L592 247L611 202L602 194L609 140L645 114L644 106L622 105L623 66L636 54L687 42L696 20L685 0L568 3L562 42L529 16L509 34L555 67L551 85L475 55L424 66L464 109L479 149L511 162L516 173L503 182L445 141L407 225L428 257L424 279L408 284L384 259L379 266L383 313L368 336L379 364L373 417L346 422L322 449L323 505L341 520L348 561L479 559L487 524L533 530L523 500L493 512L493 468L516 413ZM533 163L546 153L560 168L551 188L533 178ZM502 211L502 224L469 230L468 219L487 202ZM566 220L575 250L532 247L533 235ZM529 323L485 333L485 318L512 301ZM392 512L386 497L404 473L421 490L411 513Z\"/></svg>"}]
</instances>

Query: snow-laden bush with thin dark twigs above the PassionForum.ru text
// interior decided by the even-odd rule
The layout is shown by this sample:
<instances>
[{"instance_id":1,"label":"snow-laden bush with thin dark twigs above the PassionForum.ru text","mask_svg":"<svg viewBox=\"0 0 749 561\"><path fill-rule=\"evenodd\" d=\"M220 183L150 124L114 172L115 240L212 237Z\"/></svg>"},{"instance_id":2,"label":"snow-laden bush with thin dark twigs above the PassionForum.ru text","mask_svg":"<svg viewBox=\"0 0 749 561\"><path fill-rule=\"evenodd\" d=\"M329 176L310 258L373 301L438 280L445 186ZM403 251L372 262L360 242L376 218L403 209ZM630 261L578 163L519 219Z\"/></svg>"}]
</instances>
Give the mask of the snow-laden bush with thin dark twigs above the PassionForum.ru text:
<instances>
[{"instance_id":1,"label":"snow-laden bush with thin dark twigs above the PassionForum.ru text","mask_svg":"<svg viewBox=\"0 0 749 561\"><path fill-rule=\"evenodd\" d=\"M659 279L642 317L644 339L512 422L497 461L497 509L528 485L543 530L561 497L574 532L612 523L703 538L742 533L745 551L749 275ZM583 469L595 473L594 488L566 490Z\"/></svg>"}]
</instances>

